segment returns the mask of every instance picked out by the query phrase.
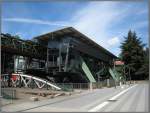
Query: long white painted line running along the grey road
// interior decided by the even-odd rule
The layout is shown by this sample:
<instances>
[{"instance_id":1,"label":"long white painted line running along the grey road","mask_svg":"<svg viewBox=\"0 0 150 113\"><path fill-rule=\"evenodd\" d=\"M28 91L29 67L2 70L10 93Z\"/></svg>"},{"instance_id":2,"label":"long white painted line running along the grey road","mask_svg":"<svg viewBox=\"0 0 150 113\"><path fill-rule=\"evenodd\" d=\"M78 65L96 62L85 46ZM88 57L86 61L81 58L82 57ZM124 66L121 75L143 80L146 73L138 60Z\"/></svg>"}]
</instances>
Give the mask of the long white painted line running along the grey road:
<instances>
[{"instance_id":1,"label":"long white painted line running along the grey road","mask_svg":"<svg viewBox=\"0 0 150 113\"><path fill-rule=\"evenodd\" d=\"M132 87L129 87L129 88L125 89L124 91L120 92L119 94L115 95L114 97L112 97L112 98L110 98L110 99L108 99L108 100L115 100L115 99L117 99L119 96L123 95L125 92L127 92L128 90L130 90L131 88L133 88L133 87L135 87L135 86L137 86L137 85L134 85L134 86L132 86ZM104 106L106 106L107 104L109 104L109 102L108 102L108 101L105 101L105 102L103 102L102 104L99 104L99 105L97 105L96 107L90 109L88 112L96 112L96 111L102 109L102 108L103 108Z\"/></svg>"}]
</instances>

